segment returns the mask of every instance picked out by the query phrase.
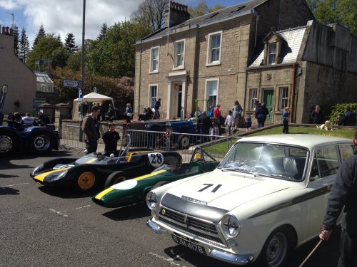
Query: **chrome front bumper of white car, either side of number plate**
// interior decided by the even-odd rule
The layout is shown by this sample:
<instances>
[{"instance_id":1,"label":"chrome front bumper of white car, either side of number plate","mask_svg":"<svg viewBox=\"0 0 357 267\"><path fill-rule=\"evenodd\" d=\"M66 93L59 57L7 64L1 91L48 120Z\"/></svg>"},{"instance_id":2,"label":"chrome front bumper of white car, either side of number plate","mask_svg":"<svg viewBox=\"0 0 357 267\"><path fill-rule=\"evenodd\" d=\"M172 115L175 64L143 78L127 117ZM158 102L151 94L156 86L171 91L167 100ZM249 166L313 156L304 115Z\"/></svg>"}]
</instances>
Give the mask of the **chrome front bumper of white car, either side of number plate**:
<instances>
[{"instance_id":1,"label":"chrome front bumper of white car, either side of number plate","mask_svg":"<svg viewBox=\"0 0 357 267\"><path fill-rule=\"evenodd\" d=\"M174 234L174 230L171 229L164 229L161 227L159 224L155 223L151 219L149 219L146 222L146 225L154 231L156 234ZM233 263L237 265L245 265L248 263L251 263L254 259L252 255L237 255L235 253L229 253L226 251L223 251L220 248L211 248L208 246L208 244L205 244L203 242L199 242L200 246L203 246L206 251L208 251L207 255L216 258L221 261L226 261L228 263Z\"/></svg>"}]
</instances>

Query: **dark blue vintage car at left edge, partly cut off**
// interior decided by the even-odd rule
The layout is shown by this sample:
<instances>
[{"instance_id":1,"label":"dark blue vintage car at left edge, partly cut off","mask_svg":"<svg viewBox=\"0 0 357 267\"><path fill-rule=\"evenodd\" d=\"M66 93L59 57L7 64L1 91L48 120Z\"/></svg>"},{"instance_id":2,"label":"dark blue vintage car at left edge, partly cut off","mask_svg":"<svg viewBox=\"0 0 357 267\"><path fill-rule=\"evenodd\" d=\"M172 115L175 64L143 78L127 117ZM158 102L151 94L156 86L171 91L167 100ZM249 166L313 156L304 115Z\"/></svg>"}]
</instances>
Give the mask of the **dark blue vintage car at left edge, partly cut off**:
<instances>
[{"instance_id":1,"label":"dark blue vintage car at left edge, partly cut off","mask_svg":"<svg viewBox=\"0 0 357 267\"><path fill-rule=\"evenodd\" d=\"M0 157L15 152L45 154L59 149L59 133L47 127L0 126Z\"/></svg>"}]
</instances>

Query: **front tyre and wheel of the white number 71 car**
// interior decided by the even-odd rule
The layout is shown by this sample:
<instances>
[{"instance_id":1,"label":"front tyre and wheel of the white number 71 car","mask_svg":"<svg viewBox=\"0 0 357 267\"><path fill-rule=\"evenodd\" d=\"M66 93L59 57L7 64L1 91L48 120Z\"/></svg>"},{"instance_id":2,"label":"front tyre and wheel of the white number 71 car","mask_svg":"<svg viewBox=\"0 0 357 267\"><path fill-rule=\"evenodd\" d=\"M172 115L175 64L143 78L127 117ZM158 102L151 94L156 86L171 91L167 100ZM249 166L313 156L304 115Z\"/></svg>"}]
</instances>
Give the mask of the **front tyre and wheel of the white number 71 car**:
<instances>
[{"instance_id":1,"label":"front tyre and wheel of the white number 71 car","mask_svg":"<svg viewBox=\"0 0 357 267\"><path fill-rule=\"evenodd\" d=\"M286 227L279 227L268 236L258 257L259 266L284 266L291 253L293 244L290 232Z\"/></svg>"}]
</instances>

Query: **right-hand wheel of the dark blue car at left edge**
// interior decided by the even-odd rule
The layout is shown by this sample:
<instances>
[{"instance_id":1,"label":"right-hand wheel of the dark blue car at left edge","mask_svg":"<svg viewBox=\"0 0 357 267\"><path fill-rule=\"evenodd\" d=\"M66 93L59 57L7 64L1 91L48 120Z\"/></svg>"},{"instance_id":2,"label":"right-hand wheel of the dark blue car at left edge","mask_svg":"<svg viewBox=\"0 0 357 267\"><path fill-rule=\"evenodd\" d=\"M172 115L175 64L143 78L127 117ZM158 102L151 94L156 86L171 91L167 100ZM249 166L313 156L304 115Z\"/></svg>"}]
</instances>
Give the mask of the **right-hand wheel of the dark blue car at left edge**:
<instances>
[{"instance_id":1,"label":"right-hand wheel of the dark blue car at left edge","mask_svg":"<svg viewBox=\"0 0 357 267\"><path fill-rule=\"evenodd\" d=\"M34 132L29 139L29 151L34 154L46 154L54 147L52 136L49 132Z\"/></svg>"}]
</instances>

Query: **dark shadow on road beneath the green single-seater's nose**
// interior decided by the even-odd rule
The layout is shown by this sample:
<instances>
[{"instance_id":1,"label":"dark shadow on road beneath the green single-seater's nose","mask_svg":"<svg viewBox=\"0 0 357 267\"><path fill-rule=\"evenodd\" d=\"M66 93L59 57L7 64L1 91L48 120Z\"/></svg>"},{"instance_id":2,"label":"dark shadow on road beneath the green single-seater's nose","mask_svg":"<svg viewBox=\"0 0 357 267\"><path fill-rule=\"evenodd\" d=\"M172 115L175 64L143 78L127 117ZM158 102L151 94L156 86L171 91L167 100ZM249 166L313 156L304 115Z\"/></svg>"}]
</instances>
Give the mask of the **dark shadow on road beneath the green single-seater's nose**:
<instances>
[{"instance_id":1,"label":"dark shadow on road beneath the green single-seater's nose","mask_svg":"<svg viewBox=\"0 0 357 267\"><path fill-rule=\"evenodd\" d=\"M114 209L102 215L114 221L125 221L150 216L150 210L146 205L139 203Z\"/></svg>"}]
</instances>

